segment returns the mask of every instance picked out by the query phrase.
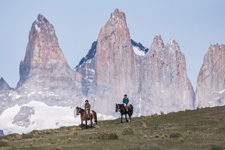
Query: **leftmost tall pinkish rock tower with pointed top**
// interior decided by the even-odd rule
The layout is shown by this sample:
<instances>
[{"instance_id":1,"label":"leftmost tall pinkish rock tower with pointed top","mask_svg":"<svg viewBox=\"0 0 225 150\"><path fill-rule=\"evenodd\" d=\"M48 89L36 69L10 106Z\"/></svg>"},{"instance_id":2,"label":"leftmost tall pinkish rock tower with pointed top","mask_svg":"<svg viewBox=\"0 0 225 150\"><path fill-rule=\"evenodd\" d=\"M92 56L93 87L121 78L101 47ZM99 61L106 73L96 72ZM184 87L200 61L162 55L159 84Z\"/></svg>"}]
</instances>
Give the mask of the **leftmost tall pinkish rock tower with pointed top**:
<instances>
[{"instance_id":1,"label":"leftmost tall pinkish rock tower with pointed top","mask_svg":"<svg viewBox=\"0 0 225 150\"><path fill-rule=\"evenodd\" d=\"M75 80L75 72L59 47L53 25L38 15L29 33L25 58L20 63L18 102L37 100L49 105L72 106L78 87Z\"/></svg>"}]
</instances>

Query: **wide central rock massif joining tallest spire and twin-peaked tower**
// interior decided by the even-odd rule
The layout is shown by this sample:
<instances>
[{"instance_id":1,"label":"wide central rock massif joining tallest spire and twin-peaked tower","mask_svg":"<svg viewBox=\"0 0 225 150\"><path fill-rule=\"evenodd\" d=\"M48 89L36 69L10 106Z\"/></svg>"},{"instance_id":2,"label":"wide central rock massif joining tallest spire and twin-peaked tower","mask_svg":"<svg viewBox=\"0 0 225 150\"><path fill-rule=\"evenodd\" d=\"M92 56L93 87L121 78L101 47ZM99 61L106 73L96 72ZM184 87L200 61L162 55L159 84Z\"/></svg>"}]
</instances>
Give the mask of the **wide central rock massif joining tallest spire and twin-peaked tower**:
<instances>
[{"instance_id":1,"label":"wide central rock massif joining tallest spire and twin-peaked tower","mask_svg":"<svg viewBox=\"0 0 225 150\"><path fill-rule=\"evenodd\" d=\"M193 109L194 91L177 42L164 46L156 36L149 50L134 43L125 14L116 9L100 30L95 56L77 67L94 109L112 114L124 94L135 115Z\"/></svg>"}]
</instances>

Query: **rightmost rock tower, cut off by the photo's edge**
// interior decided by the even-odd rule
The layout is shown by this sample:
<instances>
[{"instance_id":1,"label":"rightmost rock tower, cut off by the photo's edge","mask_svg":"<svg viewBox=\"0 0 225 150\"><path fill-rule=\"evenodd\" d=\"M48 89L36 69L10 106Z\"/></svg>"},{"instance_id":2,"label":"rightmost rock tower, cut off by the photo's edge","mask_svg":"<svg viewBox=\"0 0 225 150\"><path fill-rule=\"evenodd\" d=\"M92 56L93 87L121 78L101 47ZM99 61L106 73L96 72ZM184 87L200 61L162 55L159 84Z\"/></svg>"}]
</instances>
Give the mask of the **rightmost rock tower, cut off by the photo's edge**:
<instances>
[{"instance_id":1,"label":"rightmost rock tower, cut off by the photo's edge","mask_svg":"<svg viewBox=\"0 0 225 150\"><path fill-rule=\"evenodd\" d=\"M225 105L225 45L211 45L198 75L196 107Z\"/></svg>"}]
</instances>

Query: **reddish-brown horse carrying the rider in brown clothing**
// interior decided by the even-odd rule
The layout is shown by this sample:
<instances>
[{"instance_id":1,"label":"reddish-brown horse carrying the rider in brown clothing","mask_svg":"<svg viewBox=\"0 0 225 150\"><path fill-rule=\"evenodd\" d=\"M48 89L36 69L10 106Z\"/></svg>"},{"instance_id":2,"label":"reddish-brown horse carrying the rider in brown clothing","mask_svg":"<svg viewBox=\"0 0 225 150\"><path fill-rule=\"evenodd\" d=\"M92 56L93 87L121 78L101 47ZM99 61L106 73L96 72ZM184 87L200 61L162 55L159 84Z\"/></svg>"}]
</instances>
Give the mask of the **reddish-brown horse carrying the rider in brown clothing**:
<instances>
[{"instance_id":1,"label":"reddish-brown horse carrying the rider in brown clothing","mask_svg":"<svg viewBox=\"0 0 225 150\"><path fill-rule=\"evenodd\" d=\"M91 121L91 128L92 128L92 119L94 118L95 120L95 123L97 125L97 113L92 110L90 111L90 116L88 118L87 116L87 113L84 109L80 108L80 107L77 107L77 115L80 114L80 120L81 120L81 128L83 129L83 121L85 121L85 125L86 125L86 128L87 128L87 121L90 120Z\"/></svg>"}]
</instances>

